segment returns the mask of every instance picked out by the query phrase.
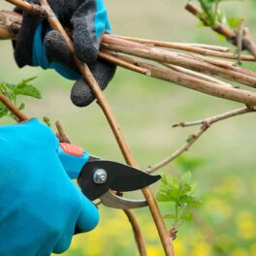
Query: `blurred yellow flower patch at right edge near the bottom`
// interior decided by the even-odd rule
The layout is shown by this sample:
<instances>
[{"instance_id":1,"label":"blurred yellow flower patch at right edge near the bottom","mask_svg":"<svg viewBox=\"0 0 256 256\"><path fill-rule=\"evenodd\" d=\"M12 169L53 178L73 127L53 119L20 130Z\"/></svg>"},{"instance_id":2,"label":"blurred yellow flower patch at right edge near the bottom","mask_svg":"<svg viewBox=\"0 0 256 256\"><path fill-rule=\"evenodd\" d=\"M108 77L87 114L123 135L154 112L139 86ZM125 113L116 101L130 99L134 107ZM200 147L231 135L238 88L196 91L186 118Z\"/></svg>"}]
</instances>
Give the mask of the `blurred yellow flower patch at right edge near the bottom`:
<instances>
[{"instance_id":1,"label":"blurred yellow flower patch at right edge near the bottom","mask_svg":"<svg viewBox=\"0 0 256 256\"><path fill-rule=\"evenodd\" d=\"M243 240L252 240L256 236L255 217L252 212L244 210L240 211L236 218L238 235Z\"/></svg>"}]
</instances>

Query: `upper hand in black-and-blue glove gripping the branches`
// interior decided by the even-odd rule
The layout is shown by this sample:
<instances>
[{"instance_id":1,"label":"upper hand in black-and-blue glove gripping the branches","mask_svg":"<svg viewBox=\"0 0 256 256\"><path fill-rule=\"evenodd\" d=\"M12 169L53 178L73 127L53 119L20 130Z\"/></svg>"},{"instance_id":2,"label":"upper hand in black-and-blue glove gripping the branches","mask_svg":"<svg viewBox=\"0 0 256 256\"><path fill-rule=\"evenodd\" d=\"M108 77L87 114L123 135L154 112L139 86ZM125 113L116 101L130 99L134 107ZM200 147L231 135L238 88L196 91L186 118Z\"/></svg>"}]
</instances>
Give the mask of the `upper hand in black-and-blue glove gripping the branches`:
<instances>
[{"instance_id":1,"label":"upper hand in black-and-blue glove gripping the branches","mask_svg":"<svg viewBox=\"0 0 256 256\"><path fill-rule=\"evenodd\" d=\"M40 1L29 2L39 4ZM115 66L97 59L102 35L111 32L103 0L48 0L48 3L61 24L72 28L76 55L88 64L100 87L105 89L112 80ZM77 80L71 91L71 100L75 105L84 107L95 99L88 84L81 78L62 36L51 31L47 20L24 13L14 47L16 63L20 68L25 65L53 68L63 77Z\"/></svg>"}]
</instances>

